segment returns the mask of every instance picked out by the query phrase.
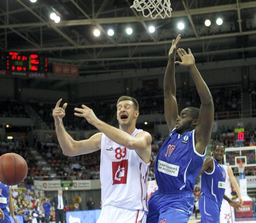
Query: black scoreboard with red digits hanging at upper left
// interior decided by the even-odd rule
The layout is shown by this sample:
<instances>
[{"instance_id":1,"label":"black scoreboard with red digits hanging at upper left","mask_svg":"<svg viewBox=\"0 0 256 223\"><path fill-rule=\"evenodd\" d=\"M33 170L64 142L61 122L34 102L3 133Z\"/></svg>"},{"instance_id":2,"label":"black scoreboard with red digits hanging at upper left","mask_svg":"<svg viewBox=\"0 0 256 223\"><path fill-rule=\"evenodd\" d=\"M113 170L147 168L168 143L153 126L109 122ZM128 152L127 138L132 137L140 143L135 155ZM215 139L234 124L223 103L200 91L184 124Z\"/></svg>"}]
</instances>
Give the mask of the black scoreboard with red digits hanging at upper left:
<instances>
[{"instance_id":1,"label":"black scoreboard with red digits hanging at upper left","mask_svg":"<svg viewBox=\"0 0 256 223\"><path fill-rule=\"evenodd\" d=\"M47 73L47 58L36 53L7 52L1 56L1 70Z\"/></svg>"}]
</instances>

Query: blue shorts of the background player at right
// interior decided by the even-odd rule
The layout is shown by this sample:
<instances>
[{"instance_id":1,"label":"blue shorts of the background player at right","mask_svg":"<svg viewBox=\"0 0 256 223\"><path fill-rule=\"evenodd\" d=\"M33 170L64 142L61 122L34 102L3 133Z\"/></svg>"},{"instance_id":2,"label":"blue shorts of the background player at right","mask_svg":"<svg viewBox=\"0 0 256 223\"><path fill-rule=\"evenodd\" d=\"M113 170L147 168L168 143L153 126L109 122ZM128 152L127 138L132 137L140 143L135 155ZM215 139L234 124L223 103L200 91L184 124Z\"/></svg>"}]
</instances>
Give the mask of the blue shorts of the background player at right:
<instances>
[{"instance_id":1,"label":"blue shorts of the background player at right","mask_svg":"<svg viewBox=\"0 0 256 223\"><path fill-rule=\"evenodd\" d=\"M220 223L220 207L210 197L201 195L199 198L201 223Z\"/></svg>"}]
</instances>

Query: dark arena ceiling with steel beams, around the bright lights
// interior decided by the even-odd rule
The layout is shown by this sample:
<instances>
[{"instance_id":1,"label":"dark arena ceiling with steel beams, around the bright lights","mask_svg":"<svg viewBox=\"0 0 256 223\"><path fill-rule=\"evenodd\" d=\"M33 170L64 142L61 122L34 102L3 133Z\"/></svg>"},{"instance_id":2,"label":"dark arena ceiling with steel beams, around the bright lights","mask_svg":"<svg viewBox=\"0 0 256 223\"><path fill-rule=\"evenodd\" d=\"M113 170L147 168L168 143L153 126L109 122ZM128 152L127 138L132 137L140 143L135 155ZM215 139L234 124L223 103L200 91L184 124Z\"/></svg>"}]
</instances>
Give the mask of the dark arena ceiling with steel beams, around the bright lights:
<instances>
[{"instance_id":1,"label":"dark arena ceiling with steel beams, around the bright lights","mask_svg":"<svg viewBox=\"0 0 256 223\"><path fill-rule=\"evenodd\" d=\"M50 62L78 64L80 75L166 66L178 33L197 62L256 56L256 1L171 0L172 17L144 18L131 0L1 0L1 51L44 53ZM59 23L49 17L60 16ZM223 24L215 20L220 17ZM210 27L204 21L210 19ZM185 24L183 30L178 22ZM154 33L148 26L156 27ZM125 29L130 26L132 35ZM93 30L101 31L99 37ZM108 36L112 28L114 36Z\"/></svg>"}]
</instances>

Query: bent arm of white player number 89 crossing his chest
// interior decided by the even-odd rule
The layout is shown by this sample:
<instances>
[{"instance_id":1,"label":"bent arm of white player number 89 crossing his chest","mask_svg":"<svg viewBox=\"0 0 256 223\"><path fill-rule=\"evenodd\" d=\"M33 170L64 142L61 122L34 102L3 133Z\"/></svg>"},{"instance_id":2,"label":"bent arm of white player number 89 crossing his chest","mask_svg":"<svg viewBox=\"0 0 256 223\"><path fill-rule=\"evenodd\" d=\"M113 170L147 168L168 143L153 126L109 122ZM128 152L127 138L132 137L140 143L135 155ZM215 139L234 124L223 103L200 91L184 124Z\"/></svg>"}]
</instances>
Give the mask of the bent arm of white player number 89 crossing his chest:
<instances>
[{"instance_id":1,"label":"bent arm of white player number 89 crossing his chest","mask_svg":"<svg viewBox=\"0 0 256 223\"><path fill-rule=\"evenodd\" d=\"M93 110L85 105L82 105L82 108L75 108L75 111L80 112L75 113L76 116L86 118L87 122L103 132L109 139L121 146L136 150L138 155L145 163L149 162L152 137L148 132L142 131L133 137L125 131L117 129L101 121L94 114Z\"/></svg>"}]
</instances>

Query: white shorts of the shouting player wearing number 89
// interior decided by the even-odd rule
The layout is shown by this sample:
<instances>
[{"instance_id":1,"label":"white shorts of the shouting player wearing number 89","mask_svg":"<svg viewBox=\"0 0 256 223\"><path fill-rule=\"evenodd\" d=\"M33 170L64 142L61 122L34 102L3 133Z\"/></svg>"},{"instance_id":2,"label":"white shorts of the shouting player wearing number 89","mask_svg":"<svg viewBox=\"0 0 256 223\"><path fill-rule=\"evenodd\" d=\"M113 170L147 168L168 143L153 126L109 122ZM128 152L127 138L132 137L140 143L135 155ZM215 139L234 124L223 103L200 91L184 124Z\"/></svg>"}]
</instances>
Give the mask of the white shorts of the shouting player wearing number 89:
<instances>
[{"instance_id":1,"label":"white shorts of the shouting player wearing number 89","mask_svg":"<svg viewBox=\"0 0 256 223\"><path fill-rule=\"evenodd\" d=\"M131 211L114 206L103 206L96 223L146 223L145 211Z\"/></svg>"}]
</instances>

